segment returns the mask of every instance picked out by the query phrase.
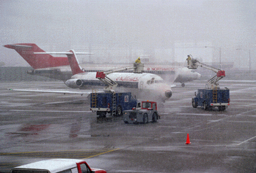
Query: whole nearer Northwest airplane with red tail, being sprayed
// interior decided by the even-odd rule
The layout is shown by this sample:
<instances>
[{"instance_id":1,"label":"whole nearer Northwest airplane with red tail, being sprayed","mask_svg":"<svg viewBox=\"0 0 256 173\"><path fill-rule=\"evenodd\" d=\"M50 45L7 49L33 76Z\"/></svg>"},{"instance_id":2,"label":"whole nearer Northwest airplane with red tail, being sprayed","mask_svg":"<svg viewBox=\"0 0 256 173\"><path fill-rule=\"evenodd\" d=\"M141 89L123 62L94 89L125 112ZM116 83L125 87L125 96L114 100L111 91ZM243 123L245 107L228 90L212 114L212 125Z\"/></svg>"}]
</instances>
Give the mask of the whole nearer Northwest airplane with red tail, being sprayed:
<instances>
[{"instance_id":1,"label":"whole nearer Northwest airplane with red tail, being sprayed","mask_svg":"<svg viewBox=\"0 0 256 173\"><path fill-rule=\"evenodd\" d=\"M71 66L73 76L71 79L65 82L69 88L79 89L95 89L103 88L106 86L104 82L101 82L96 78L97 72L84 72L78 63L76 53L74 50L69 52L37 52L34 54L64 54L68 56L68 60ZM77 53L85 54L85 53ZM172 96L171 86L165 84L164 79L160 76L151 73L122 73L113 72L107 75L118 85L116 88L119 91L129 91L135 94L139 98L145 98L146 100L157 100L165 102ZM174 86L172 86L174 87ZM115 89L115 90L116 90ZM57 91L46 89L12 89L14 91L32 91L32 92L54 92L54 93L69 93L69 94L89 94L91 92L84 91Z\"/></svg>"}]
</instances>

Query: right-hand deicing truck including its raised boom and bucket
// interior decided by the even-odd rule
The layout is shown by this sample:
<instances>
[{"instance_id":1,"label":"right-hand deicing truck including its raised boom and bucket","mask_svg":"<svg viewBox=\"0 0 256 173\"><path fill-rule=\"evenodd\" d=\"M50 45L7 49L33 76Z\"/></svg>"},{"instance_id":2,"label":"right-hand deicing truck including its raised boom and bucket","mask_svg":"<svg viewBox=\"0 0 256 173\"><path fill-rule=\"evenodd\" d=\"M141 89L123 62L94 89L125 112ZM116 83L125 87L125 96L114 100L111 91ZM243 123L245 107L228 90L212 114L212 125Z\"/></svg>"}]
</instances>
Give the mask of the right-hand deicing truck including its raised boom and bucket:
<instances>
[{"instance_id":1,"label":"right-hand deicing truck including its raised boom and bucket","mask_svg":"<svg viewBox=\"0 0 256 173\"><path fill-rule=\"evenodd\" d=\"M190 55L187 59L188 69L197 69L199 66L216 72L216 75L207 81L204 89L197 90L196 97L192 98L192 106L194 108L202 106L204 110L211 110L213 107L217 107L219 111L224 111L230 102L229 89L226 87L225 89L220 89L219 84L216 82L225 77L225 71L200 63Z\"/></svg>"}]
</instances>

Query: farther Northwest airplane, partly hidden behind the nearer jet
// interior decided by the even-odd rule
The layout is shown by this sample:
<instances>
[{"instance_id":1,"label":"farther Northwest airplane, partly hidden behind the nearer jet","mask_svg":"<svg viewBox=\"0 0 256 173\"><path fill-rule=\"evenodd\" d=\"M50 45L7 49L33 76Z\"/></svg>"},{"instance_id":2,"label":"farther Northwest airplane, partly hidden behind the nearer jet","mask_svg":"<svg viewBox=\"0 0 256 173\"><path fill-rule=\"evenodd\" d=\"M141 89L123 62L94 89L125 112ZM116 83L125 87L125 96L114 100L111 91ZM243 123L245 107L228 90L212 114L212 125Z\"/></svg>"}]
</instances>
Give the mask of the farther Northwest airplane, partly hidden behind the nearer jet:
<instances>
[{"instance_id":1,"label":"farther Northwest airplane, partly hidden behind the nearer jet","mask_svg":"<svg viewBox=\"0 0 256 173\"><path fill-rule=\"evenodd\" d=\"M7 44L4 47L16 50L30 64L34 69L33 71L27 72L30 75L40 75L62 81L66 81L72 76L68 57L34 54L34 52L44 52L44 50L33 43ZM123 65L84 64L81 66L84 72L97 72L108 71L113 69L113 67L120 68ZM131 71L123 72L130 73ZM169 83L180 82L182 87L185 87L185 82L191 82L201 78L199 73L193 72L187 67L180 66L145 65L144 72L159 75Z\"/></svg>"}]
</instances>

